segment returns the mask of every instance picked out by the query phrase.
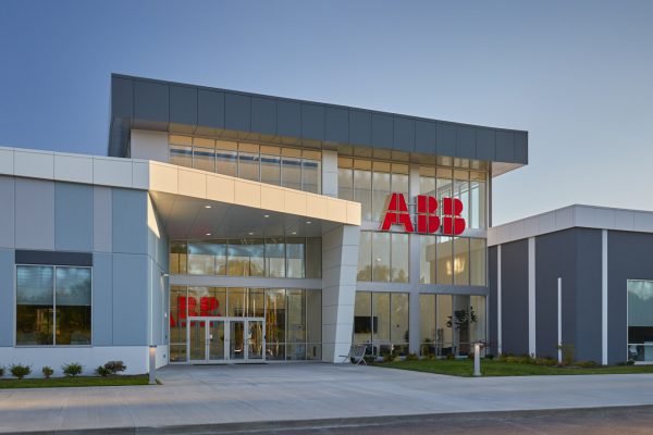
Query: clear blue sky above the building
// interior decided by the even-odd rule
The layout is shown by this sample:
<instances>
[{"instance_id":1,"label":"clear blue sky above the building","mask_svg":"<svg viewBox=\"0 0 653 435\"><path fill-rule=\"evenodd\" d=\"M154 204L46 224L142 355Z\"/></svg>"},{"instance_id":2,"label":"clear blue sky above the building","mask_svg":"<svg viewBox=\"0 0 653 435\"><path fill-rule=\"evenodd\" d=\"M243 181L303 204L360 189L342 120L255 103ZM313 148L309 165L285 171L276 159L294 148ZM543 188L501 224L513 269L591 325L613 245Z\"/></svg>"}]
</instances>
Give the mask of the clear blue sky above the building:
<instances>
[{"instance_id":1,"label":"clear blue sky above the building","mask_svg":"<svg viewBox=\"0 0 653 435\"><path fill-rule=\"evenodd\" d=\"M653 1L2 1L0 145L104 154L110 73L527 129L494 223L653 210Z\"/></svg>"}]
</instances>

